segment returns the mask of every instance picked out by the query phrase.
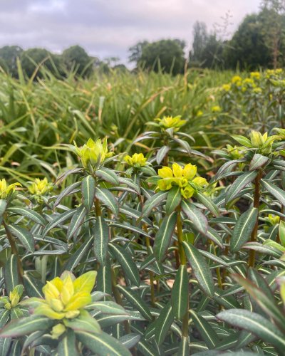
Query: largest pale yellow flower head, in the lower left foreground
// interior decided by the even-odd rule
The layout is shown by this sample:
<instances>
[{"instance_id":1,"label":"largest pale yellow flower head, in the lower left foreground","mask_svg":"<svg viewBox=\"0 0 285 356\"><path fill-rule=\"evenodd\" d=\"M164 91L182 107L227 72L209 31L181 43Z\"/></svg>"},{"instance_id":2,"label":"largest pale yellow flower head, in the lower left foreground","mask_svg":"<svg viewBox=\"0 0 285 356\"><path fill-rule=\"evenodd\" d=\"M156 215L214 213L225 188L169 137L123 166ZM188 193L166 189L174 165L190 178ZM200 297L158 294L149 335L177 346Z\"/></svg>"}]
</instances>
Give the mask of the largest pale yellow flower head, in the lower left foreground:
<instances>
[{"instance_id":1,"label":"largest pale yellow flower head, in the lower left foreground","mask_svg":"<svg viewBox=\"0 0 285 356\"><path fill-rule=\"evenodd\" d=\"M78 278L66 271L59 278L48 281L43 287L44 299L30 298L26 304L34 303L35 314L61 320L76 318L86 305L91 303L91 290L95 285L97 272L90 271ZM60 330L54 330L58 333Z\"/></svg>"}]
</instances>

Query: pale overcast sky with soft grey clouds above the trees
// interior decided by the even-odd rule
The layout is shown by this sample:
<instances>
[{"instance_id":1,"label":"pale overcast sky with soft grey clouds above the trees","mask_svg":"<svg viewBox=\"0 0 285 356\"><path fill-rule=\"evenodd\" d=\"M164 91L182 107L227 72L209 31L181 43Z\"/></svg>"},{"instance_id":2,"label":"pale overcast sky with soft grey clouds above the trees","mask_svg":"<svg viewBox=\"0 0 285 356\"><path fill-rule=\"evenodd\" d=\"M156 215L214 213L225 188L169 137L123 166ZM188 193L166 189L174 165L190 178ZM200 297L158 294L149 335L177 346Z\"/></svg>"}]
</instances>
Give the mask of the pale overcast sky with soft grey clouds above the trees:
<instances>
[{"instance_id":1,"label":"pale overcast sky with soft grey clouds above the trees","mask_svg":"<svg viewBox=\"0 0 285 356\"><path fill-rule=\"evenodd\" d=\"M73 44L90 55L128 58L141 40L181 38L189 47L192 26L222 24L227 11L232 33L260 0L0 0L0 46L43 47L61 52Z\"/></svg>"}]
</instances>

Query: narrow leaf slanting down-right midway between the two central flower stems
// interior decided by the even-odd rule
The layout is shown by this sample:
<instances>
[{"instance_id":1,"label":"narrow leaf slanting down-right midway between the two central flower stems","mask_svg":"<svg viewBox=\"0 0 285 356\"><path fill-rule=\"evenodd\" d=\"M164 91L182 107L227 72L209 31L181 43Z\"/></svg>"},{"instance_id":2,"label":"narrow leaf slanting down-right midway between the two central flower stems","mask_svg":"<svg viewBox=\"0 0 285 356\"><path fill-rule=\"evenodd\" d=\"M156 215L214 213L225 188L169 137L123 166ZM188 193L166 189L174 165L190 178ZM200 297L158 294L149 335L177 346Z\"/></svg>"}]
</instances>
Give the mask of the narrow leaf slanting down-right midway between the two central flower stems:
<instances>
[{"instance_id":1,"label":"narrow leaf slanting down-right midway between the two central flower stems","mask_svg":"<svg viewBox=\"0 0 285 356\"><path fill-rule=\"evenodd\" d=\"M135 286L140 286L140 273L130 253L117 244L109 244L109 249L120 263L126 276Z\"/></svg>"}]
</instances>

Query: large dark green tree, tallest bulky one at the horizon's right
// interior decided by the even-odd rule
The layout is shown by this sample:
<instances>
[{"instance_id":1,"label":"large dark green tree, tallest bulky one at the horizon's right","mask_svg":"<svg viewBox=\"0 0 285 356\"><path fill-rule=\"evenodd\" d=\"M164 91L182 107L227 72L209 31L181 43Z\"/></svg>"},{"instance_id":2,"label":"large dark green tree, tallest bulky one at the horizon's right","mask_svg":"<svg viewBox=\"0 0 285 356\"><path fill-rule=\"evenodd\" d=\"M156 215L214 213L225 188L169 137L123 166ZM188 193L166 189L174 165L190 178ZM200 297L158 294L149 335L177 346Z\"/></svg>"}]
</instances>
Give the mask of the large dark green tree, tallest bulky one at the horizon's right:
<instances>
[{"instance_id":1,"label":"large dark green tree, tallest bulky one at the horizon's right","mask_svg":"<svg viewBox=\"0 0 285 356\"><path fill-rule=\"evenodd\" d=\"M224 46L226 68L266 68L271 62L271 53L264 43L262 22L259 14L247 15L234 36Z\"/></svg>"}]
</instances>

